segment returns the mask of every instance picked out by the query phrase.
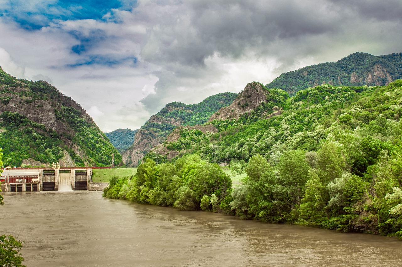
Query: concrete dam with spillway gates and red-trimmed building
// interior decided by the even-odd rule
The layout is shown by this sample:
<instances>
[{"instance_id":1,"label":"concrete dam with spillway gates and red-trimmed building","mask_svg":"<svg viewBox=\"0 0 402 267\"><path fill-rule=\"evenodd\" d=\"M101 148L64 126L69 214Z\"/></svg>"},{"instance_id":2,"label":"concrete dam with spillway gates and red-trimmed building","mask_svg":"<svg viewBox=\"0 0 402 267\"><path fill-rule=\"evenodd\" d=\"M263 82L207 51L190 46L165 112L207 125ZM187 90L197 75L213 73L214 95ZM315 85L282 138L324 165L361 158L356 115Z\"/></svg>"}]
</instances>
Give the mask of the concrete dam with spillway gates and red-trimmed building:
<instances>
[{"instance_id":1,"label":"concrete dam with spillway gates and red-trimmed building","mask_svg":"<svg viewBox=\"0 0 402 267\"><path fill-rule=\"evenodd\" d=\"M0 184L3 192L93 190L93 168L111 167L4 169Z\"/></svg>"}]
</instances>

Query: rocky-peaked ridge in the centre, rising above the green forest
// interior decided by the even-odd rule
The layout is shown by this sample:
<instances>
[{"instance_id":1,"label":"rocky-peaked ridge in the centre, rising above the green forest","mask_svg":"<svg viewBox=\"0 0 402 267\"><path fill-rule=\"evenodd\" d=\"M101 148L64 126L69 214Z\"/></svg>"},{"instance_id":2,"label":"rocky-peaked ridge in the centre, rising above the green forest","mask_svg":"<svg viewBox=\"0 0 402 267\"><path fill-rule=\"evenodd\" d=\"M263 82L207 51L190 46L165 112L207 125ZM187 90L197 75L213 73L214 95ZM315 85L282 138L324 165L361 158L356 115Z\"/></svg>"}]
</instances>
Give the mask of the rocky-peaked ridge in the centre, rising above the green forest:
<instances>
[{"instance_id":1,"label":"rocky-peaked ridge in the centre, rising above the green forest","mask_svg":"<svg viewBox=\"0 0 402 267\"><path fill-rule=\"evenodd\" d=\"M213 113L205 125L177 127L167 136L163 144L152 148L147 157L156 162L164 158L170 160L180 154L191 153L193 146L208 143L211 134L222 133L228 126L238 126L237 122L242 124L250 120L280 115L283 111L282 105L288 96L281 89L267 89L255 81L248 83L230 105Z\"/></svg>"}]
</instances>

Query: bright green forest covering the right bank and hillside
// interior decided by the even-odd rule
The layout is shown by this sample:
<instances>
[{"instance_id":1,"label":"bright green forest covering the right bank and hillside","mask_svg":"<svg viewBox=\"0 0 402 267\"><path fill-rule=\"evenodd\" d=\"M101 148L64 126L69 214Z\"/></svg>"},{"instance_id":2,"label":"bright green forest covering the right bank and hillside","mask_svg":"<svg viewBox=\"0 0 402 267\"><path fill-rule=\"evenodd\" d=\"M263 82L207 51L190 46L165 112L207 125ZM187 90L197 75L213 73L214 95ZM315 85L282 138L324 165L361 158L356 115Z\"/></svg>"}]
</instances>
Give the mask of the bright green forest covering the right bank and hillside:
<instances>
[{"instance_id":1,"label":"bright green forest covering the right bank and hillside","mask_svg":"<svg viewBox=\"0 0 402 267\"><path fill-rule=\"evenodd\" d=\"M148 157L104 196L402 239L402 80L324 84L292 97L265 89L269 99L254 111L211 122L217 134L183 129L164 144L176 158ZM240 185L223 162L246 174Z\"/></svg>"}]
</instances>

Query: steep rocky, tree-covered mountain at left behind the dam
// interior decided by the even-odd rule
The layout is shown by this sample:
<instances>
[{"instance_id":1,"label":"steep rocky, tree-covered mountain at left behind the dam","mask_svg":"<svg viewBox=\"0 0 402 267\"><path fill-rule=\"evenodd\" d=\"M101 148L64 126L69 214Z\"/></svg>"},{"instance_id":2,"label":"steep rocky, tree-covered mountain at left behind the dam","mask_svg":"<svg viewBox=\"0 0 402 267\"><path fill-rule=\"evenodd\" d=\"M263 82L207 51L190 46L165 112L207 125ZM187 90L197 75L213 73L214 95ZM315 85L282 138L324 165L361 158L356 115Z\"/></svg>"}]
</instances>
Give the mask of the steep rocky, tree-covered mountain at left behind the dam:
<instances>
[{"instance_id":1,"label":"steep rocky, tree-covered mountain at left behind the dam","mask_svg":"<svg viewBox=\"0 0 402 267\"><path fill-rule=\"evenodd\" d=\"M45 81L16 79L0 68L0 148L5 165L109 166L109 142L86 111Z\"/></svg>"}]
</instances>

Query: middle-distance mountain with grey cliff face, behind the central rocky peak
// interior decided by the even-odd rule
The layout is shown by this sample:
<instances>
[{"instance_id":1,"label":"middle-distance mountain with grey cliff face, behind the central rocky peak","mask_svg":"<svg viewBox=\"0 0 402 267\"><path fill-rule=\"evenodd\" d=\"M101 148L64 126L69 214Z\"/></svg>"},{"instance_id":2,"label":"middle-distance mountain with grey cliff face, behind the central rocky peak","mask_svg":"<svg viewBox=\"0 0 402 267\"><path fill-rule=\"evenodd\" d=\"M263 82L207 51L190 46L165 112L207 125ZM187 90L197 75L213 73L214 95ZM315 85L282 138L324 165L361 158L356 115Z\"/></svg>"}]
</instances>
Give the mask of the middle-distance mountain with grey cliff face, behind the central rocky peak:
<instances>
[{"instance_id":1,"label":"middle-distance mountain with grey cliff face, behind the central rocky peak","mask_svg":"<svg viewBox=\"0 0 402 267\"><path fill-rule=\"evenodd\" d=\"M236 96L235 93L219 93L198 104L167 104L135 133L133 144L122 154L123 162L126 166L137 166L144 155L154 146L162 144L173 129L180 125L193 126L207 122L213 113L231 104Z\"/></svg>"}]
</instances>

